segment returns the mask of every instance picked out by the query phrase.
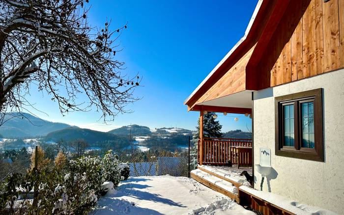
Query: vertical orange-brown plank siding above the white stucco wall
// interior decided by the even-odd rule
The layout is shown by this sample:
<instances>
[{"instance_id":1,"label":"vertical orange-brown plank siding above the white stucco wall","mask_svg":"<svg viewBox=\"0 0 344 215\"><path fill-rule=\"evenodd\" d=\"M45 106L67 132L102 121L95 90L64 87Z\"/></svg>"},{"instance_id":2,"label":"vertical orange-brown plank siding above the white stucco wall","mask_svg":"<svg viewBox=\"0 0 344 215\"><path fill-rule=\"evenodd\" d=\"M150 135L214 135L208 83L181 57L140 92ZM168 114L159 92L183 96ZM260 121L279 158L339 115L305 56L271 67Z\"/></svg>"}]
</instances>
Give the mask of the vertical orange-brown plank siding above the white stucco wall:
<instances>
[{"instance_id":1,"label":"vertical orange-brown plank siding above the white stucco wall","mask_svg":"<svg viewBox=\"0 0 344 215\"><path fill-rule=\"evenodd\" d=\"M259 43L259 41L258 41ZM344 67L344 0L291 0L255 66L263 89Z\"/></svg>"}]
</instances>

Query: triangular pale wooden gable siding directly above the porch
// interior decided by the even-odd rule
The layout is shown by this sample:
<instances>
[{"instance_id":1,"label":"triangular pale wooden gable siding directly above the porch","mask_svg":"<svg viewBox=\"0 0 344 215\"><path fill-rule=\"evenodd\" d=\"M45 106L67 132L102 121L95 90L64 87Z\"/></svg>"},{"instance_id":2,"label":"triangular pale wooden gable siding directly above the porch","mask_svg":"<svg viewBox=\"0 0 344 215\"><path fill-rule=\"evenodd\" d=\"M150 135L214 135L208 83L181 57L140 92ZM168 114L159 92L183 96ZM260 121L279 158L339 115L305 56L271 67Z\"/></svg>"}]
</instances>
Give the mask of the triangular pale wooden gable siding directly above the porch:
<instances>
[{"instance_id":1,"label":"triangular pale wooden gable siding directly above the porch","mask_svg":"<svg viewBox=\"0 0 344 215\"><path fill-rule=\"evenodd\" d=\"M246 65L255 45L249 49L195 104L217 99L246 89Z\"/></svg>"}]
</instances>

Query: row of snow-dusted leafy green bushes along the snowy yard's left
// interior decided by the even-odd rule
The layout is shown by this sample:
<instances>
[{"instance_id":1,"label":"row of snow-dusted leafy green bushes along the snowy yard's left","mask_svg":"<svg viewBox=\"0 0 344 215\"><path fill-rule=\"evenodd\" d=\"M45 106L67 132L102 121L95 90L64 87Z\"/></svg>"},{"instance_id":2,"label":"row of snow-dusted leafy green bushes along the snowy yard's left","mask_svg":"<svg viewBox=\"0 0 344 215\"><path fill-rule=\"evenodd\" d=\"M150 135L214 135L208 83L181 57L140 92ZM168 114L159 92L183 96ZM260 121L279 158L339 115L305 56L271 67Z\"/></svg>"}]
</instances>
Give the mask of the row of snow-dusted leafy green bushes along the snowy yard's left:
<instances>
[{"instance_id":1,"label":"row of snow-dusted leafy green bushes along the snowy yard's left","mask_svg":"<svg viewBox=\"0 0 344 215\"><path fill-rule=\"evenodd\" d=\"M25 177L10 174L0 182L0 214L2 210L37 215L86 214L97 204L101 192L104 194L102 185L117 187L127 167L108 151L102 158L81 157L63 166L30 170ZM38 194L35 201L28 200L34 186L38 186Z\"/></svg>"}]
</instances>

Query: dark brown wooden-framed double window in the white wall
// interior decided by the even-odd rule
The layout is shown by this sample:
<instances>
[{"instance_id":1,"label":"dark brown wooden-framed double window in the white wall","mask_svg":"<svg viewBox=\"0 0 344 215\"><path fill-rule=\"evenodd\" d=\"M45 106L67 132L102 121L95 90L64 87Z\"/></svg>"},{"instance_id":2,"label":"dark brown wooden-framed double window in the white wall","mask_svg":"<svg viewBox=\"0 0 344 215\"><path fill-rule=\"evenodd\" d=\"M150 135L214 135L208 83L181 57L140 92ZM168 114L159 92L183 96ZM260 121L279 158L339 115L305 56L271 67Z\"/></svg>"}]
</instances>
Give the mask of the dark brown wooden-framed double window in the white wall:
<instances>
[{"instance_id":1,"label":"dark brown wooden-framed double window in the white wall","mask_svg":"<svg viewBox=\"0 0 344 215\"><path fill-rule=\"evenodd\" d=\"M323 161L322 90L275 98L278 156Z\"/></svg>"}]
</instances>

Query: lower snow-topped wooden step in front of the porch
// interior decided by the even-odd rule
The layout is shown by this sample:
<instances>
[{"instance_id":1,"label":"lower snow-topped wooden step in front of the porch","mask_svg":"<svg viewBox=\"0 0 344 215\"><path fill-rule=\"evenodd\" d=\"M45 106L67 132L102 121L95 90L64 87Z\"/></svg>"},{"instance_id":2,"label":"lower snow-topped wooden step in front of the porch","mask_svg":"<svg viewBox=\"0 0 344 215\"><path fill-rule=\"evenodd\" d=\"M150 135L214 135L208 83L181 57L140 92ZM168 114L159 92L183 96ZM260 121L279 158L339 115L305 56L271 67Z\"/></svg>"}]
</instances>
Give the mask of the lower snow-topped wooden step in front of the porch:
<instances>
[{"instance_id":1,"label":"lower snow-topped wooden step in front of the porch","mask_svg":"<svg viewBox=\"0 0 344 215\"><path fill-rule=\"evenodd\" d=\"M229 198L234 199L237 203L240 203L240 199L237 195L238 189L230 182L217 178L216 176L213 176L200 169L192 170L191 177L206 187L220 192Z\"/></svg>"}]
</instances>

